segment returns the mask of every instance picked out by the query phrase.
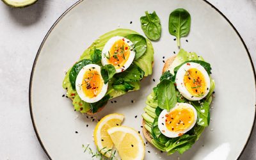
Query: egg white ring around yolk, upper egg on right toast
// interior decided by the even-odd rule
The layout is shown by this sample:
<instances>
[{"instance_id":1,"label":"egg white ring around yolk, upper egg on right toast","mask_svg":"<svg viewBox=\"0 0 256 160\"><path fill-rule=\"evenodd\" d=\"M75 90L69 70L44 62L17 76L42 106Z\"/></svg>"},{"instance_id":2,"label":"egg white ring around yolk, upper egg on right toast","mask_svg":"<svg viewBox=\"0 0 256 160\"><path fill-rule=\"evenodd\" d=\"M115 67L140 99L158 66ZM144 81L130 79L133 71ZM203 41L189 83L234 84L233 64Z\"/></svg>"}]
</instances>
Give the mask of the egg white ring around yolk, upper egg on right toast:
<instances>
[{"instance_id":1,"label":"egg white ring around yolk, upper egg on right toast","mask_svg":"<svg viewBox=\"0 0 256 160\"><path fill-rule=\"evenodd\" d=\"M196 68L196 69L200 70L200 72L202 72L204 79L205 79L205 83L206 83L205 91L200 96L193 96L191 93L188 92L188 90L184 84L184 76L186 75L186 70L189 70L191 68ZM205 70L205 68L202 67L202 65L200 65L198 63L194 63L194 62L185 63L184 65L182 65L179 68L179 70L177 71L177 74L176 74L175 82L177 84L177 89L179 90L179 92L188 100L204 99L204 97L209 93L210 86L211 86L210 77L209 77L207 71Z\"/></svg>"}]
</instances>

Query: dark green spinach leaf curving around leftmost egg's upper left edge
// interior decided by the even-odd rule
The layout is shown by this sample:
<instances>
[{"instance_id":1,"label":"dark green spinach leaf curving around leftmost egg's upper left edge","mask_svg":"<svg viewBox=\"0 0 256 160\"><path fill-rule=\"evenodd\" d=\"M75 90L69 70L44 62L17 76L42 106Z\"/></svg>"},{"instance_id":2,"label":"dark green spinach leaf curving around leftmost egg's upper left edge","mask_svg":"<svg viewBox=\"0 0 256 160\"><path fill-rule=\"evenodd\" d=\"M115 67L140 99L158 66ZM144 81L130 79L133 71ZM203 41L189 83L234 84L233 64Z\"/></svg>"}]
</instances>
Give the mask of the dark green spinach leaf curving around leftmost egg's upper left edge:
<instances>
[{"instance_id":1,"label":"dark green spinach leaf curving around leftmost egg's upper left edge","mask_svg":"<svg viewBox=\"0 0 256 160\"><path fill-rule=\"evenodd\" d=\"M73 90L76 90L76 77L77 75L79 74L80 70L86 66L86 65L89 65L89 64L92 64L92 61L91 60L87 60L87 59L84 59L84 60L81 60L79 62L77 62L70 70L70 73L69 73L69 81L71 83L71 86L72 86L72 89Z\"/></svg>"}]
</instances>

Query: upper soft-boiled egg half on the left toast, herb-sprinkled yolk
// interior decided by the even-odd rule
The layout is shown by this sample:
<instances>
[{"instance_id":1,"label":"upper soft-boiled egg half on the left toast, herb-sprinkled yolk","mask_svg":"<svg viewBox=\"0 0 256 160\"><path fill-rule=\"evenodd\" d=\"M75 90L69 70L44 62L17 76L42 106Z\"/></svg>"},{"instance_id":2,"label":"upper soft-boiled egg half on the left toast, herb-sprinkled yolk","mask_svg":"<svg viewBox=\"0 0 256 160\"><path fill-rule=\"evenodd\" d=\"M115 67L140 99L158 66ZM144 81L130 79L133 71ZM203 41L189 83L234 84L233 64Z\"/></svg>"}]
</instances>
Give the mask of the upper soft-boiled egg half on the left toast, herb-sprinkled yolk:
<instances>
[{"instance_id":1,"label":"upper soft-boiled egg half on the left toast, herb-sprinkled yolk","mask_svg":"<svg viewBox=\"0 0 256 160\"><path fill-rule=\"evenodd\" d=\"M122 36L113 36L102 49L102 65L113 65L116 72L123 72L132 63L135 52L131 40Z\"/></svg>"}]
</instances>

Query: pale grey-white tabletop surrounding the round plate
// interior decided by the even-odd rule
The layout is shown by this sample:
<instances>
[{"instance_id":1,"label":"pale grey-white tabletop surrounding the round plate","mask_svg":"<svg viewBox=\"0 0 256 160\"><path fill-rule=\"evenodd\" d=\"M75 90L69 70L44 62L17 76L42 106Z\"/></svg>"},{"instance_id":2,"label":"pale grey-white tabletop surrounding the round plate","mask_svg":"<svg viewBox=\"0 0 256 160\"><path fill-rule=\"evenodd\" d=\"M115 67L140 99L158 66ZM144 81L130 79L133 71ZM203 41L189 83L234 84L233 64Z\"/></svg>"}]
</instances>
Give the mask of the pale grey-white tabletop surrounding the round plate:
<instances>
[{"instance_id":1,"label":"pale grey-white tabletop surrounding the round plate","mask_svg":"<svg viewBox=\"0 0 256 160\"><path fill-rule=\"evenodd\" d=\"M23 9L0 1L0 159L47 159L31 123L29 78L45 34L76 1L38 0ZM208 1L234 24L256 64L256 0ZM255 150L254 127L241 159L256 159Z\"/></svg>"}]
</instances>

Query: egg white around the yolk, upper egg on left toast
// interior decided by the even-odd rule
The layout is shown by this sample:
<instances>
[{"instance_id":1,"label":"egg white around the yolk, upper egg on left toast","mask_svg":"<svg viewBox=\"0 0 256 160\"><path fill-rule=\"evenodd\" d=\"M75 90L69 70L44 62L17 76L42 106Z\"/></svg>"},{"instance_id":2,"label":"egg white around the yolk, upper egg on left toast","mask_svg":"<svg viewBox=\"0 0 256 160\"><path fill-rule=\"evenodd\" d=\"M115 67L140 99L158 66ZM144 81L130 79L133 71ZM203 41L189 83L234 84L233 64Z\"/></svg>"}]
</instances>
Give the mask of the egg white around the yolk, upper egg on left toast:
<instances>
[{"instance_id":1,"label":"egg white around the yolk, upper egg on left toast","mask_svg":"<svg viewBox=\"0 0 256 160\"><path fill-rule=\"evenodd\" d=\"M108 52L110 51L111 47L115 44L115 42L117 40L124 40L125 43L127 43L129 45L130 48L132 48L132 42L131 40L124 38L122 36L113 36L112 38L110 38L108 40L108 42L104 45L104 48L102 49L102 59L101 59L101 63L102 65L108 65L109 61L108 58L106 58L106 55L108 55ZM123 65L124 67L122 68L116 68L116 73L120 73L123 72L124 70L126 70L132 63L132 61L134 60L135 57L135 52L134 50L130 50L130 55L128 60L125 62L125 64Z\"/></svg>"}]
</instances>

